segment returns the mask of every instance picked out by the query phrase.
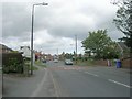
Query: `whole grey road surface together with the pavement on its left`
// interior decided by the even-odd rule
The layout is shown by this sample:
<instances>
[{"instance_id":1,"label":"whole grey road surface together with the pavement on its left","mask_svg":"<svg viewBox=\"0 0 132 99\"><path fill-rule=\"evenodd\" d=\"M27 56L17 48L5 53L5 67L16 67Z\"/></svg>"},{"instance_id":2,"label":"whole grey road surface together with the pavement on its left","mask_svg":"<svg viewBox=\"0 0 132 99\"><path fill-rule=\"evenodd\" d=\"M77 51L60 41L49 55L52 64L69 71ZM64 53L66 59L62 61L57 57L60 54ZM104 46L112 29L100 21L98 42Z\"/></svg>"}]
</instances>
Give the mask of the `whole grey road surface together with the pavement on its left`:
<instances>
[{"instance_id":1,"label":"whole grey road surface together with the pavement on its left","mask_svg":"<svg viewBox=\"0 0 132 99\"><path fill-rule=\"evenodd\" d=\"M130 97L128 69L47 62L32 77L4 77L4 97Z\"/></svg>"}]
</instances>

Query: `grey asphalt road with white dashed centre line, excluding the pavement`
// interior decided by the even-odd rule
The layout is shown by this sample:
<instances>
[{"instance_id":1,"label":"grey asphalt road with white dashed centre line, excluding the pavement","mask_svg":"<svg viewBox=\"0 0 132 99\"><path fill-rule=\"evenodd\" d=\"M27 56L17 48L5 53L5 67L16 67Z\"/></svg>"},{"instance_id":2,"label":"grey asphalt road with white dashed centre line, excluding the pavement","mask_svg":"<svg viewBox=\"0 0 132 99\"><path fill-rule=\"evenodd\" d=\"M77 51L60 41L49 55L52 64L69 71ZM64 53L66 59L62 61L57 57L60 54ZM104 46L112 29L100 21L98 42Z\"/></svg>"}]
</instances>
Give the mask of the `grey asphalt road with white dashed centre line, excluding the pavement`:
<instances>
[{"instance_id":1,"label":"grey asphalt road with white dashed centre line, excluding the pavement","mask_svg":"<svg viewBox=\"0 0 132 99\"><path fill-rule=\"evenodd\" d=\"M130 97L130 73L116 67L48 63L59 97Z\"/></svg>"}]
</instances>

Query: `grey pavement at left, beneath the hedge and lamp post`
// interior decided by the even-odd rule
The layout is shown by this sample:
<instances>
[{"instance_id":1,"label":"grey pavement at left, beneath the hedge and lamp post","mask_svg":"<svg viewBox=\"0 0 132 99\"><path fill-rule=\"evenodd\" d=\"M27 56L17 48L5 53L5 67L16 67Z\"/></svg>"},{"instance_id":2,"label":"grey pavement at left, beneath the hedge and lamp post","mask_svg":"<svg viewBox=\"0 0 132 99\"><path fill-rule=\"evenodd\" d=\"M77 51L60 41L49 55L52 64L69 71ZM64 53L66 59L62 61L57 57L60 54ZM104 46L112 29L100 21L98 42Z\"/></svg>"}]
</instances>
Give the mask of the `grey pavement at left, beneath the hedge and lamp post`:
<instances>
[{"instance_id":1,"label":"grey pavement at left, beneath the hedge and lamp post","mask_svg":"<svg viewBox=\"0 0 132 99\"><path fill-rule=\"evenodd\" d=\"M31 77L3 76L3 97L56 97L50 72L41 67Z\"/></svg>"}]
</instances>

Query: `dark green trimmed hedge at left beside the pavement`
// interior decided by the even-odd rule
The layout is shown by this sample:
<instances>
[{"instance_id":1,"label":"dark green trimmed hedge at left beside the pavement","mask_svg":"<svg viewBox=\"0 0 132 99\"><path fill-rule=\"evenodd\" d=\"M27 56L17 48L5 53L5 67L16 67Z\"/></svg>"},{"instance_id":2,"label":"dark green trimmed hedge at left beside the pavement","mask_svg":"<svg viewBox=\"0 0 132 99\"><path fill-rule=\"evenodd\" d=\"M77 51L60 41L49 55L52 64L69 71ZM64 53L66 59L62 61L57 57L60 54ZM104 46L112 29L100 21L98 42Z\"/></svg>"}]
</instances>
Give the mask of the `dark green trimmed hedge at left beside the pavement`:
<instances>
[{"instance_id":1,"label":"dark green trimmed hedge at left beside the pavement","mask_svg":"<svg viewBox=\"0 0 132 99\"><path fill-rule=\"evenodd\" d=\"M21 53L2 53L3 73L23 73Z\"/></svg>"}]
</instances>

